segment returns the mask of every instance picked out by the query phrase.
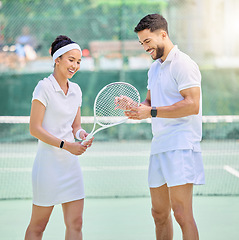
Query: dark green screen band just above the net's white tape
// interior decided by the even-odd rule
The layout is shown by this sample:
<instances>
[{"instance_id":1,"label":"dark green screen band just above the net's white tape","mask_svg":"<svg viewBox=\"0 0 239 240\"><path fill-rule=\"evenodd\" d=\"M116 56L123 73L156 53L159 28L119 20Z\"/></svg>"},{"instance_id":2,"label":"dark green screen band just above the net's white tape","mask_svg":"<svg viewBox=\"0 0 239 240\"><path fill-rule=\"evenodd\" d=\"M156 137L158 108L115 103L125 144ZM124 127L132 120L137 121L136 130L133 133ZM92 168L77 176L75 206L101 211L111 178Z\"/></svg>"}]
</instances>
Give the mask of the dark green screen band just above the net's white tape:
<instances>
[{"instance_id":1,"label":"dark green screen band just above the net's white tape","mask_svg":"<svg viewBox=\"0 0 239 240\"><path fill-rule=\"evenodd\" d=\"M239 70L201 70L203 115L239 115ZM0 76L0 115L28 116L31 98L37 82L49 73L2 74ZM147 70L124 71L123 81L139 90L141 99L146 97ZM82 115L93 115L97 92L106 84L121 81L121 71L80 71L73 81L83 92Z\"/></svg>"}]
</instances>

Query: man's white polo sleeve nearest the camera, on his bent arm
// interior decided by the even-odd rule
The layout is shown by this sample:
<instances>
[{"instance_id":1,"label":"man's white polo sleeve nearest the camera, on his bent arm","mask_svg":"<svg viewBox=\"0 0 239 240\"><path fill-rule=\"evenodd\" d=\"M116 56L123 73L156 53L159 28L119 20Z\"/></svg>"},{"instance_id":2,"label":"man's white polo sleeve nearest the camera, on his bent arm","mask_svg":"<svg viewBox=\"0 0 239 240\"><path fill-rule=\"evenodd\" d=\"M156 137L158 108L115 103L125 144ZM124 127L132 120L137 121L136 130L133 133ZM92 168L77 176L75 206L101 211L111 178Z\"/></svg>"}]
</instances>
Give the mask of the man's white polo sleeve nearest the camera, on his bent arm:
<instances>
[{"instance_id":1,"label":"man's white polo sleeve nearest the camera, on his bent arm","mask_svg":"<svg viewBox=\"0 0 239 240\"><path fill-rule=\"evenodd\" d=\"M197 64L189 57L182 58L172 65L172 75L178 84L178 91L201 87L201 73Z\"/></svg>"}]
</instances>

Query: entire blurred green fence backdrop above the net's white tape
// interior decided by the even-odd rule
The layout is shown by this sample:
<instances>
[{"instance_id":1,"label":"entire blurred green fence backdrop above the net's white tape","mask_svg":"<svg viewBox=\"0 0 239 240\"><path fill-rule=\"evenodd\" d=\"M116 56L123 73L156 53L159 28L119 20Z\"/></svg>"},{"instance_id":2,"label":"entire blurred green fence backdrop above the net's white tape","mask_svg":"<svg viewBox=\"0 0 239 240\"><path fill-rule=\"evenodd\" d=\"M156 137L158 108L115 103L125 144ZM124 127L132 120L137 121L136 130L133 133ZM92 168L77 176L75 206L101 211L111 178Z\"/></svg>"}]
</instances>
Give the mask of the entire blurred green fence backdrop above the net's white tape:
<instances>
[{"instance_id":1,"label":"entire blurred green fence backdrop above the net's white tape","mask_svg":"<svg viewBox=\"0 0 239 240\"><path fill-rule=\"evenodd\" d=\"M83 91L83 115L93 114L96 93L109 82L132 83L143 99L152 60L133 30L149 13L166 17L173 43L200 66L203 115L237 115L237 4L234 0L1 0L0 115L29 115L35 85L53 70L49 48L59 34L83 49L81 70L73 78ZM37 55L24 63L16 54L23 29L34 39Z\"/></svg>"}]
</instances>

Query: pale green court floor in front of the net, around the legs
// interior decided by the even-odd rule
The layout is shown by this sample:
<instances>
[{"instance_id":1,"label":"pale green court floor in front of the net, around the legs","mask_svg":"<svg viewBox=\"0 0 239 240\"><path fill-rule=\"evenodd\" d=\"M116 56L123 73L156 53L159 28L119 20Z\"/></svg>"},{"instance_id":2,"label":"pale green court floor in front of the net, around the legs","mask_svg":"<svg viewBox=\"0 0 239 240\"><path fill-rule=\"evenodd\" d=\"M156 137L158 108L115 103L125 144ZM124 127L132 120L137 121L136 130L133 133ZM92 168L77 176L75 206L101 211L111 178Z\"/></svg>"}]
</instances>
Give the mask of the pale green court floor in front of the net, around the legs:
<instances>
[{"instance_id":1,"label":"pale green court floor in front of the net, around the legs","mask_svg":"<svg viewBox=\"0 0 239 240\"><path fill-rule=\"evenodd\" d=\"M83 236L85 240L154 240L150 198L87 198ZM194 197L194 215L202 240L237 240L239 197ZM0 201L0 238L24 239L31 214L31 200ZM63 240L61 206L56 206L43 237ZM174 239L181 232L174 222Z\"/></svg>"}]
</instances>

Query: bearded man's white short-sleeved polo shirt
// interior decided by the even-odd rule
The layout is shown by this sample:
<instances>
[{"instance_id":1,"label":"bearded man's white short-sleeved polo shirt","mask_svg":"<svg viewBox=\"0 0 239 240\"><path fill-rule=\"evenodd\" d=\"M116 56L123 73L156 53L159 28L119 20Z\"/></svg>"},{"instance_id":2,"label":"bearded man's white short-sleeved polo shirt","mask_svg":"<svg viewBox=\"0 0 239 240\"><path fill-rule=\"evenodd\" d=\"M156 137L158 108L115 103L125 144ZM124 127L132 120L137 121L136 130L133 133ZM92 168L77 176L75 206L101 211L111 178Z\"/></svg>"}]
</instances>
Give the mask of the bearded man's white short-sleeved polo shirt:
<instances>
[{"instance_id":1,"label":"bearded man's white short-sleeved polo shirt","mask_svg":"<svg viewBox=\"0 0 239 240\"><path fill-rule=\"evenodd\" d=\"M166 60L156 60L148 72L151 106L170 106L183 100L180 91L191 87L201 88L201 74L197 64L177 46ZM177 149L200 152L202 138L202 101L198 115L182 118L152 118L153 139L151 154Z\"/></svg>"}]
</instances>

